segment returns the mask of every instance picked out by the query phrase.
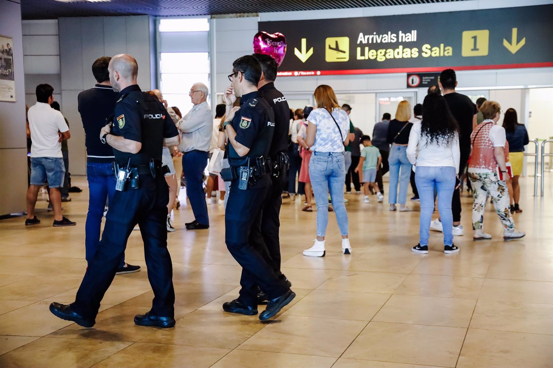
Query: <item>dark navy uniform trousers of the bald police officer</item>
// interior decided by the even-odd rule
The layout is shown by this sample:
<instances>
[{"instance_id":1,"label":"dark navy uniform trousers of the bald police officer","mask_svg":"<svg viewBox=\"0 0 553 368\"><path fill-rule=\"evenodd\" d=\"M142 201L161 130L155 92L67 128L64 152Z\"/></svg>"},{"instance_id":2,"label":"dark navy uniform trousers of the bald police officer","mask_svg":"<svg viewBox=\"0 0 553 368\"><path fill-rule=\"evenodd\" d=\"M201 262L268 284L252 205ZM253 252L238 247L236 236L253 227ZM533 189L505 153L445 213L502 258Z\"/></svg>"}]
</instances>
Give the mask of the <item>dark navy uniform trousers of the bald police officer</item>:
<instances>
[{"instance_id":1,"label":"dark navy uniform trousers of the bald police officer","mask_svg":"<svg viewBox=\"0 0 553 368\"><path fill-rule=\"evenodd\" d=\"M96 254L81 282L72 309L85 318L95 318L100 302L113 281L127 239L139 225L144 242L148 280L154 291L152 314L173 317L175 290L173 264L167 250L167 203L169 188L163 176L139 175L140 187L116 191L109 201L106 227Z\"/></svg>"}]
</instances>

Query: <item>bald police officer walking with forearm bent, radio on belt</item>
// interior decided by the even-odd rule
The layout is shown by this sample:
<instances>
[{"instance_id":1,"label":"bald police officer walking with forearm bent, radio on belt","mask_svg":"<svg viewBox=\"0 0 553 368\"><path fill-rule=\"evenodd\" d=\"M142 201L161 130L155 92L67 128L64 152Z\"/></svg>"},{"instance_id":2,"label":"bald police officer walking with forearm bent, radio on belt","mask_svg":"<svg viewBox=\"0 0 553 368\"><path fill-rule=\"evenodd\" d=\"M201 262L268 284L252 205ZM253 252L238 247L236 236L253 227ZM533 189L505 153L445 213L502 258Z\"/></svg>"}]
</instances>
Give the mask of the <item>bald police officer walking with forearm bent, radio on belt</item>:
<instances>
[{"instance_id":1,"label":"bald police officer walking with forearm bent, radio on belt","mask_svg":"<svg viewBox=\"0 0 553 368\"><path fill-rule=\"evenodd\" d=\"M161 169L161 147L178 145L179 133L163 105L140 91L138 65L132 56L114 56L108 70L111 86L119 96L113 129L111 124L106 125L99 138L113 147L117 190L109 203L102 240L88 262L75 302L51 303L50 312L83 327L94 326L102 297L113 281L129 234L138 223L154 300L152 309L135 316L134 323L173 327L175 291L165 228L169 190Z\"/></svg>"}]
</instances>

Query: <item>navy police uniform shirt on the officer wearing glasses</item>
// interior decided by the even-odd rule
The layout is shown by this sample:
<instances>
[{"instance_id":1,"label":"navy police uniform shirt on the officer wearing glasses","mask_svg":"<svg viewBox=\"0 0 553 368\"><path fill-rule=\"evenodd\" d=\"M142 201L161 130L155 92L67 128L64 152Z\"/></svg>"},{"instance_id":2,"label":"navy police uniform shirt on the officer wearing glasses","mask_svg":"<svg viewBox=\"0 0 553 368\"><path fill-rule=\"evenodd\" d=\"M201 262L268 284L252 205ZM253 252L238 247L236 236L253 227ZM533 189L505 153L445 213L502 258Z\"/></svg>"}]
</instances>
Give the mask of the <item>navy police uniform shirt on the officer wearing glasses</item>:
<instances>
[{"instance_id":1,"label":"navy police uniform shirt on the officer wearing glasses","mask_svg":"<svg viewBox=\"0 0 553 368\"><path fill-rule=\"evenodd\" d=\"M268 156L275 127L274 113L258 91L242 96L240 110L236 111L232 126L236 130L234 139L248 147L249 152L246 156L240 157L234 147L228 145L228 162L231 166L247 166L248 157Z\"/></svg>"}]
</instances>

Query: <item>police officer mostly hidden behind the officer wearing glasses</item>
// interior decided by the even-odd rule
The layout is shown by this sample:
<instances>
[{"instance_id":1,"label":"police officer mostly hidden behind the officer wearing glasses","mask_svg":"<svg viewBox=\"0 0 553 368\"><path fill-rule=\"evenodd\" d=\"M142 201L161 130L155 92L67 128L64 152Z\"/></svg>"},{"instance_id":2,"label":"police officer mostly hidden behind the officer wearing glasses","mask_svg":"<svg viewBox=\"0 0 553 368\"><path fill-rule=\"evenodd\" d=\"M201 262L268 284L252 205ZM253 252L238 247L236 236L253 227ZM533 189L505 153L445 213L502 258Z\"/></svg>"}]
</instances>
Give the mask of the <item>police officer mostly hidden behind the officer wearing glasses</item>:
<instances>
[{"instance_id":1,"label":"police officer mostly hidden behind the officer wearing glasses","mask_svg":"<svg viewBox=\"0 0 553 368\"><path fill-rule=\"evenodd\" d=\"M263 207L261 231L263 241L269 251L274 270L281 279L286 279L280 272L280 206L282 205L282 193L288 182L288 132L290 130L290 108L284 95L275 88L276 70L278 65L272 56L253 54L255 60L261 66L262 74L258 84L259 92L267 100L274 111L275 129L273 140L269 148L269 157L272 161L271 179L273 185L269 192L267 202Z\"/></svg>"}]
</instances>

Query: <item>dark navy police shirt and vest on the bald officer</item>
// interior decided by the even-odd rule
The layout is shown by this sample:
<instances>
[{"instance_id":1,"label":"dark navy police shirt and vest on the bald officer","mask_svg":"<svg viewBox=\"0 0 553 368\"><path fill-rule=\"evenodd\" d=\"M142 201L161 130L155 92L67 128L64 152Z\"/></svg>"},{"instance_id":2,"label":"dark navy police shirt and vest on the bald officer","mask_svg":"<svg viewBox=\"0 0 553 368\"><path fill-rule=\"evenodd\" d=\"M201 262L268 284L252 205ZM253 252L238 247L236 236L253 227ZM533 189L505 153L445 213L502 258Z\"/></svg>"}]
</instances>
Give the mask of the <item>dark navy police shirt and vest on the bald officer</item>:
<instances>
[{"instance_id":1,"label":"dark navy police shirt and vest on the bald officer","mask_svg":"<svg viewBox=\"0 0 553 368\"><path fill-rule=\"evenodd\" d=\"M113 118L113 135L142 143L138 153L121 152L113 148L119 164L131 157L131 164L148 164L150 159L161 161L163 138L179 135L165 107L138 84L124 88L118 95Z\"/></svg>"}]
</instances>

